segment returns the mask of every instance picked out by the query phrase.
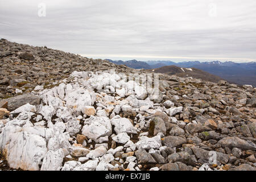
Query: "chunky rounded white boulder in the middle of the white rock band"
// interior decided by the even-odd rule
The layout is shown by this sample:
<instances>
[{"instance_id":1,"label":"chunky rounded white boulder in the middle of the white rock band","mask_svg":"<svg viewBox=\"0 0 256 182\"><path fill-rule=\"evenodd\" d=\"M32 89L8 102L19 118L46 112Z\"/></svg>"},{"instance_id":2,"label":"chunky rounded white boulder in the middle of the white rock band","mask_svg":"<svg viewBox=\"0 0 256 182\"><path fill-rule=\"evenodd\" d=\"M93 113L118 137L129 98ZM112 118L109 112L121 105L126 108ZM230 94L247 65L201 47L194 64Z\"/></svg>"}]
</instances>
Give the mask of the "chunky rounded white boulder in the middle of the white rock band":
<instances>
[{"instance_id":1,"label":"chunky rounded white boulder in the middle of the white rock band","mask_svg":"<svg viewBox=\"0 0 256 182\"><path fill-rule=\"evenodd\" d=\"M112 134L112 125L107 117L91 116L85 119L84 127L82 127L82 134L89 139L96 140L100 137L109 136Z\"/></svg>"}]
</instances>

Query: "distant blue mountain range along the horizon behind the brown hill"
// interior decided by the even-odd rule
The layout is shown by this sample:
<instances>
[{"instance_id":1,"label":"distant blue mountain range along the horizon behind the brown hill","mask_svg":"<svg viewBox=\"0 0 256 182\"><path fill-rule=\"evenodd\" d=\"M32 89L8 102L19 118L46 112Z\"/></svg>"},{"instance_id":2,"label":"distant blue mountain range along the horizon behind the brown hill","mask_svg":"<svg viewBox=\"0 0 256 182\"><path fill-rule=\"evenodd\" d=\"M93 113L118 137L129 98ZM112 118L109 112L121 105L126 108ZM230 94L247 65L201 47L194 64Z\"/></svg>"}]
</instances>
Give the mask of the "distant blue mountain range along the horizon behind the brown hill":
<instances>
[{"instance_id":1,"label":"distant blue mountain range along the horizon behind the brown hill","mask_svg":"<svg viewBox=\"0 0 256 182\"><path fill-rule=\"evenodd\" d=\"M123 64L130 68L135 69L156 69L161 67L166 67L170 65L175 65L181 68L197 68L201 71L208 72L212 75L223 78L229 82L234 82L236 84L244 85L249 84L256 86L256 62L250 63L234 63L233 61L210 61L210 62L199 62L199 61L183 61L180 63L175 63L174 61L113 61L108 60L115 64ZM171 68L170 69L174 69ZM166 68L164 68L166 70ZM171 72L171 70L170 70ZM183 73L184 74L184 73ZM215 80L215 79L214 79Z\"/></svg>"}]
</instances>

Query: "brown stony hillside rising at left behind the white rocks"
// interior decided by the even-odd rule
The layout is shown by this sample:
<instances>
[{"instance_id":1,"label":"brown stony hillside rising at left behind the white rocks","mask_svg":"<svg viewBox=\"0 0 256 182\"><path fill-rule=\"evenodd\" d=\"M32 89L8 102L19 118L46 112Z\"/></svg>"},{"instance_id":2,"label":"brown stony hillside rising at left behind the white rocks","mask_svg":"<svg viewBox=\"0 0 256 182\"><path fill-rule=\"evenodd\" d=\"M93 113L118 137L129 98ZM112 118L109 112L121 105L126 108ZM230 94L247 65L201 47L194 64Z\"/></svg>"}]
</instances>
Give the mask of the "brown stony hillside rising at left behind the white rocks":
<instances>
[{"instance_id":1,"label":"brown stony hillside rising at left behind the white rocks","mask_svg":"<svg viewBox=\"0 0 256 182\"><path fill-rule=\"evenodd\" d=\"M36 85L51 88L57 80L73 71L105 71L122 69L123 73L143 73L124 65L101 59L89 59L47 47L0 40L0 99L30 93Z\"/></svg>"}]
</instances>

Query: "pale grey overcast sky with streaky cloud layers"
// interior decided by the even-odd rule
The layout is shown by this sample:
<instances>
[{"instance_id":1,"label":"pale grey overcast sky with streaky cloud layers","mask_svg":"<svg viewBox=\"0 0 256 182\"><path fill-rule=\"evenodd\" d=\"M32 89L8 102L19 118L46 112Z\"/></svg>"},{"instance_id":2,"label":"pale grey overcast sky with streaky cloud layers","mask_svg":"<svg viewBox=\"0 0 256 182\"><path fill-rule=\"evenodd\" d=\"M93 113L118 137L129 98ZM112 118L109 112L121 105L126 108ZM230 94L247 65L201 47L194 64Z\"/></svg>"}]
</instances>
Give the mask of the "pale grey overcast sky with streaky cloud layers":
<instances>
[{"instance_id":1,"label":"pale grey overcast sky with streaky cloud layers","mask_svg":"<svg viewBox=\"0 0 256 182\"><path fill-rule=\"evenodd\" d=\"M0 0L0 37L101 59L256 61L256 1Z\"/></svg>"}]
</instances>

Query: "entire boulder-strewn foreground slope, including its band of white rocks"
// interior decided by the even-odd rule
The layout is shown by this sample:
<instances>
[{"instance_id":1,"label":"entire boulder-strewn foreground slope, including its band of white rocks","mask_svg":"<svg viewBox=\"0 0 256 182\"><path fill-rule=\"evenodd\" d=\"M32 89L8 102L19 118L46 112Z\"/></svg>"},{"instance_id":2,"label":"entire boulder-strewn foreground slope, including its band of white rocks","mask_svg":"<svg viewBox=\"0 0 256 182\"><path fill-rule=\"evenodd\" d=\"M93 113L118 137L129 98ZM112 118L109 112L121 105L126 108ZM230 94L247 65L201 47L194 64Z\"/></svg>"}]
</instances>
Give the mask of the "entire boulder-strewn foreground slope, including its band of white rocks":
<instances>
[{"instance_id":1,"label":"entire boulder-strewn foreground slope, including its band of white rocks","mask_svg":"<svg viewBox=\"0 0 256 182\"><path fill-rule=\"evenodd\" d=\"M108 61L3 39L0 51L2 170L255 170L250 85L159 73L156 87Z\"/></svg>"}]
</instances>

